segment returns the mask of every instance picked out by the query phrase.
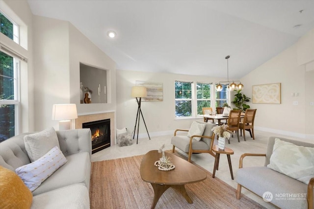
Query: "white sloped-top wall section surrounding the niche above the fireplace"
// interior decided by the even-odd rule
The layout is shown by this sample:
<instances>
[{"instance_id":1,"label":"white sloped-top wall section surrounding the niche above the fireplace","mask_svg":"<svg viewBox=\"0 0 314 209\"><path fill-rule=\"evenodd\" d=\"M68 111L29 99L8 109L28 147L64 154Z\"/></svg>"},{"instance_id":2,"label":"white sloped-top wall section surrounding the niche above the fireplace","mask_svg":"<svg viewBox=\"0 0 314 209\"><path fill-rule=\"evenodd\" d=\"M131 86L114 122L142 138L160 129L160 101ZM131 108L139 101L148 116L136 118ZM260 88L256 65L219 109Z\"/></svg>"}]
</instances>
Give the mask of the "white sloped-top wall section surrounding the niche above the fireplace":
<instances>
[{"instance_id":1,"label":"white sloped-top wall section surrounding the niche above the fireplace","mask_svg":"<svg viewBox=\"0 0 314 209\"><path fill-rule=\"evenodd\" d=\"M107 103L80 104L79 63L107 70ZM78 114L116 110L116 63L70 24L70 85L71 103L76 103ZM93 101L92 101L93 102Z\"/></svg>"}]
</instances>

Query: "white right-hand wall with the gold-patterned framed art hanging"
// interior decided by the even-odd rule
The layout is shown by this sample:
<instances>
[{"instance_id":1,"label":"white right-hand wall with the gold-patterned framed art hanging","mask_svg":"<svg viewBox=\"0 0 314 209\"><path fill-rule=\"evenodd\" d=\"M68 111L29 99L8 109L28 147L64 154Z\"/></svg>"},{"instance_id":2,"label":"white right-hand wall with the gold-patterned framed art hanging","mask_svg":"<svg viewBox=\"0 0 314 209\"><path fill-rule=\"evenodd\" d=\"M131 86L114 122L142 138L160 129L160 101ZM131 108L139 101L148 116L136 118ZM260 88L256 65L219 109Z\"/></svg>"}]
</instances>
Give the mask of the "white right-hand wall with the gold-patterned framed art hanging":
<instances>
[{"instance_id":1,"label":"white right-hand wall with the gold-patterned framed art hanging","mask_svg":"<svg viewBox=\"0 0 314 209\"><path fill-rule=\"evenodd\" d=\"M310 106L310 102L306 101L307 98L313 99L314 96L313 84L311 84L314 82L314 74L306 73L305 64L300 62L301 52L307 54L307 58L303 60L314 61L314 47L303 49L300 47L313 44L313 30L304 37L241 78L248 87L243 90L243 93L251 98L252 85L281 83L281 104L249 104L251 108L257 109L256 129L299 138L313 138L313 122L308 118L311 118L309 113L314 115L314 106ZM312 54L311 58L309 54ZM294 96L293 93L297 93L298 96ZM293 105L293 101L298 101L298 105Z\"/></svg>"}]
</instances>

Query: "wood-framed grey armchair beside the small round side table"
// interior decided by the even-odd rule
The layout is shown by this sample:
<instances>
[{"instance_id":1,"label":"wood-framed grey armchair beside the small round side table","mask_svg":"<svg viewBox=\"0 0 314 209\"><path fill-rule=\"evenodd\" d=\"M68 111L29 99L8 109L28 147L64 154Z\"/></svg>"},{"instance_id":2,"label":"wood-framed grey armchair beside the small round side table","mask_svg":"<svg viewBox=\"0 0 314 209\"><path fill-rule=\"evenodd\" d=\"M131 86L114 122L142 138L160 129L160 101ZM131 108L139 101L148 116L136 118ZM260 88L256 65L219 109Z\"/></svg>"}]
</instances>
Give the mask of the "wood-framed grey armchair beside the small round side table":
<instances>
[{"instance_id":1,"label":"wood-framed grey armchair beside the small round side table","mask_svg":"<svg viewBox=\"0 0 314 209\"><path fill-rule=\"evenodd\" d=\"M200 125L201 124L201 125ZM203 125L202 125L203 124ZM204 126L204 131L197 126ZM196 126L196 127L195 127ZM213 157L215 154L211 150L215 134L211 129L215 126L213 123L206 123L203 121L194 121L189 130L177 129L175 130L174 136L171 138L172 152L175 152L175 148L182 150L188 154L188 162L191 162L192 153L209 153ZM195 129L194 131L192 129ZM197 134L199 131L201 134ZM177 135L180 132L186 132L187 135Z\"/></svg>"}]
</instances>

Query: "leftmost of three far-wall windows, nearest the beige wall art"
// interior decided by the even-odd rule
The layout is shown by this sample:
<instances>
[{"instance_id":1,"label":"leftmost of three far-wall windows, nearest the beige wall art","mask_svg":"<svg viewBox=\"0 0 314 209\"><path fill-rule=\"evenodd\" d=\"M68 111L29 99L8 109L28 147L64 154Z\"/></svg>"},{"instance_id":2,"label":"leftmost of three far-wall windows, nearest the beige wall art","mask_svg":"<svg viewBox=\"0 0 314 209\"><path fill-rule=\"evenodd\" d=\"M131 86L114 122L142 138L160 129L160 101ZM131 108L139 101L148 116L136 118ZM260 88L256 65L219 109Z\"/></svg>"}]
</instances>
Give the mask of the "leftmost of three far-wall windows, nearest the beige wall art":
<instances>
[{"instance_id":1,"label":"leftmost of three far-wall windows, nearest the beige wall art","mask_svg":"<svg viewBox=\"0 0 314 209\"><path fill-rule=\"evenodd\" d=\"M176 117L192 116L192 82L175 81Z\"/></svg>"}]
</instances>

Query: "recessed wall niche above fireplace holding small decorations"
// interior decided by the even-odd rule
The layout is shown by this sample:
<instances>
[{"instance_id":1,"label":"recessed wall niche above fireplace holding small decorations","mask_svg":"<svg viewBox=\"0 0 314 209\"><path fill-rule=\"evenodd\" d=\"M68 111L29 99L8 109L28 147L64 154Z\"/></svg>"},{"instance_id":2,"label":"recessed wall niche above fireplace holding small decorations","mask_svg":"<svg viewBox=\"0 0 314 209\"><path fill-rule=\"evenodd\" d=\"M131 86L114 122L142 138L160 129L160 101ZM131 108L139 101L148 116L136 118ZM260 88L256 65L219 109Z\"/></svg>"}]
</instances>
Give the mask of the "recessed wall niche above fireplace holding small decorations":
<instances>
[{"instance_id":1,"label":"recessed wall niche above fireplace holding small decorations","mask_svg":"<svg viewBox=\"0 0 314 209\"><path fill-rule=\"evenodd\" d=\"M79 63L80 103L107 103L107 70Z\"/></svg>"}]
</instances>

